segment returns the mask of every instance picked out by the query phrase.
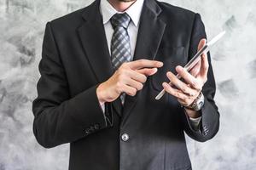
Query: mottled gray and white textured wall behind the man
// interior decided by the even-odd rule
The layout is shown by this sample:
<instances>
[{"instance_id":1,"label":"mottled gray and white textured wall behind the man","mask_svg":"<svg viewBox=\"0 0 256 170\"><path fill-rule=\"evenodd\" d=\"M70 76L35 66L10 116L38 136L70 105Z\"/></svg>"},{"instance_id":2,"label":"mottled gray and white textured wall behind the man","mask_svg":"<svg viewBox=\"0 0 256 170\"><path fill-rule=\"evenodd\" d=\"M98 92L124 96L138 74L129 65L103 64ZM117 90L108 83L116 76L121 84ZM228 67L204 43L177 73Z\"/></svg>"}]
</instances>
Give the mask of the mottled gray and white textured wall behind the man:
<instances>
[{"instance_id":1,"label":"mottled gray and white textured wall behind the man","mask_svg":"<svg viewBox=\"0 0 256 170\"><path fill-rule=\"evenodd\" d=\"M0 1L0 170L63 170L68 145L51 150L32 134L38 60L46 21L83 8L85 0ZM218 135L188 139L195 170L256 169L256 3L253 0L166 0L201 14L208 37L228 34L212 49L221 113Z\"/></svg>"}]
</instances>

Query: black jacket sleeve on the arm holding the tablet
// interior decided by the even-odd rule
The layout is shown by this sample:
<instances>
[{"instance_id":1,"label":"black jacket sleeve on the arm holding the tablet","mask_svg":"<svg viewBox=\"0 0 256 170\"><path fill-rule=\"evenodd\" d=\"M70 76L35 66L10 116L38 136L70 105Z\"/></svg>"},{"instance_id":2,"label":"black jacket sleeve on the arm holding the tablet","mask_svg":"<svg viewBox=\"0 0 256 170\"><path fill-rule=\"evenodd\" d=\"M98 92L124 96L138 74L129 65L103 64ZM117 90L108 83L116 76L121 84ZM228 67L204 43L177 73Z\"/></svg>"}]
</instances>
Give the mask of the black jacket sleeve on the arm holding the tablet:
<instances>
[{"instance_id":1,"label":"black jacket sleeve on the arm holding the tablet","mask_svg":"<svg viewBox=\"0 0 256 170\"><path fill-rule=\"evenodd\" d=\"M201 38L207 38L205 26L201 20L200 14L195 14L194 28L192 31L190 46L189 46L189 57L193 57L197 52L197 46ZM212 139L216 133L218 133L219 128L219 113L218 107L214 102L214 95L216 91L215 80L212 71L211 56L208 55L209 61L209 70L207 74L207 82L202 88L202 93L205 96L205 104L201 109L201 122L198 130L195 130L191 126L189 121L189 116L183 114L183 125L185 132L189 135L190 138L197 141L207 141Z\"/></svg>"}]
</instances>

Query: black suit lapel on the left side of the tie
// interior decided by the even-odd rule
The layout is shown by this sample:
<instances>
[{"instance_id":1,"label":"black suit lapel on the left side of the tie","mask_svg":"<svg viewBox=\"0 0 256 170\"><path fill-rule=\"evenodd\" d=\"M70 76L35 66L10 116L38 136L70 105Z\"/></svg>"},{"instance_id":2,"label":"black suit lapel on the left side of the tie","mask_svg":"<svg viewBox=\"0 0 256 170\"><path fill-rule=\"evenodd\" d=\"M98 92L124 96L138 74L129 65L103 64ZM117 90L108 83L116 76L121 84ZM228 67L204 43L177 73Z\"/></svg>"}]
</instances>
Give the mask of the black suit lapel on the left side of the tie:
<instances>
[{"instance_id":1,"label":"black suit lapel on the left side of the tie","mask_svg":"<svg viewBox=\"0 0 256 170\"><path fill-rule=\"evenodd\" d=\"M84 52L89 60L92 71L94 71L97 82L105 82L113 75L113 66L108 52L102 14L99 10L99 0L88 7L83 13L84 24L79 27L79 38ZM113 107L121 116L121 101L116 99Z\"/></svg>"}]
</instances>

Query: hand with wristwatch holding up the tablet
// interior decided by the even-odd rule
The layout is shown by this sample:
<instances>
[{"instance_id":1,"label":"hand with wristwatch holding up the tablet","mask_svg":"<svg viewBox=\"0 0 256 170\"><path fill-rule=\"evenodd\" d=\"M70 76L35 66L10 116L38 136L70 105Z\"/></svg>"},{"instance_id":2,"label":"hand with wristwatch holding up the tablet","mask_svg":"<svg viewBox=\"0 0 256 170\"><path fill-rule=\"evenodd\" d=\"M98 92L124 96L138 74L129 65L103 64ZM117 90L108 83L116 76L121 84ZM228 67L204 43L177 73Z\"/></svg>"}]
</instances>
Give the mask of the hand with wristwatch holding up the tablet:
<instances>
[{"instance_id":1,"label":"hand with wristwatch holding up the tablet","mask_svg":"<svg viewBox=\"0 0 256 170\"><path fill-rule=\"evenodd\" d=\"M201 39L198 45L198 49L201 49L207 40ZM184 82L177 79L177 77L172 72L167 72L167 77L172 82L176 88L173 88L167 82L163 83L163 87L165 88L168 94L172 94L177 98L177 101L183 106L189 106L193 103L193 101L198 97L201 92L201 89L205 82L207 82L207 72L208 72L208 59L207 54L201 55L201 60L194 66L194 68L188 72L182 66L177 66L177 73L183 78ZM195 117L195 112L189 111L191 113L191 117Z\"/></svg>"}]
</instances>

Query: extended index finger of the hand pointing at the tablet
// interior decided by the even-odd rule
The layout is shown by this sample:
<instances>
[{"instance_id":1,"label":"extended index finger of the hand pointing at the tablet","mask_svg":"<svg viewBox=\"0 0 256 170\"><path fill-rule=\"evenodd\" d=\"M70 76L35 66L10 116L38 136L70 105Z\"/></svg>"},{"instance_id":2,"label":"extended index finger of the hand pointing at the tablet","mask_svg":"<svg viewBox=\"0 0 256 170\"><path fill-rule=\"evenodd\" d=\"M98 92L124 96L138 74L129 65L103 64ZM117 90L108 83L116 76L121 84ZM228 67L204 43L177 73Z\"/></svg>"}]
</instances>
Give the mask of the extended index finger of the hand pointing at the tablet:
<instances>
[{"instance_id":1,"label":"extended index finger of the hand pointing at the tablet","mask_svg":"<svg viewBox=\"0 0 256 170\"><path fill-rule=\"evenodd\" d=\"M145 68L145 67L160 68L164 64L162 62L156 61L156 60L138 59L136 61L131 61L130 63L128 63L128 65L130 66L130 68L132 70L137 70L137 69L141 69L141 68Z\"/></svg>"}]
</instances>

